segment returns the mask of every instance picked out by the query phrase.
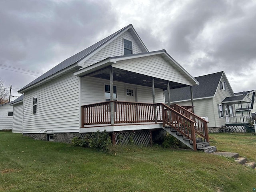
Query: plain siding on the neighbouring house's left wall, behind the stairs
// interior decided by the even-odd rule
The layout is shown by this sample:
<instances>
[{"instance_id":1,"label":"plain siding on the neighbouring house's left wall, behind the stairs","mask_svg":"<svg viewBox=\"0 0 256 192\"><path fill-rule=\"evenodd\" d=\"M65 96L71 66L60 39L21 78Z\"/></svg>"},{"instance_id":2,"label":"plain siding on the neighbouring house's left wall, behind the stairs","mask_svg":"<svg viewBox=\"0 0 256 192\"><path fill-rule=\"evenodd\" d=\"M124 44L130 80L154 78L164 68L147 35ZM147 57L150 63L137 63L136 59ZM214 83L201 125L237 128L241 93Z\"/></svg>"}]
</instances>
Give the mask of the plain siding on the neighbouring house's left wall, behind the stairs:
<instances>
[{"instance_id":1,"label":"plain siding on the neighbouring house's left wall, behind the stairs","mask_svg":"<svg viewBox=\"0 0 256 192\"><path fill-rule=\"evenodd\" d=\"M181 106L191 106L191 101L172 102ZM215 116L213 112L212 98L194 100L194 113L200 117L208 117L208 127L215 127Z\"/></svg>"}]
</instances>

